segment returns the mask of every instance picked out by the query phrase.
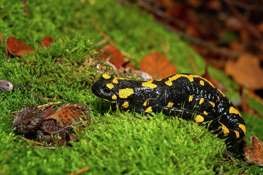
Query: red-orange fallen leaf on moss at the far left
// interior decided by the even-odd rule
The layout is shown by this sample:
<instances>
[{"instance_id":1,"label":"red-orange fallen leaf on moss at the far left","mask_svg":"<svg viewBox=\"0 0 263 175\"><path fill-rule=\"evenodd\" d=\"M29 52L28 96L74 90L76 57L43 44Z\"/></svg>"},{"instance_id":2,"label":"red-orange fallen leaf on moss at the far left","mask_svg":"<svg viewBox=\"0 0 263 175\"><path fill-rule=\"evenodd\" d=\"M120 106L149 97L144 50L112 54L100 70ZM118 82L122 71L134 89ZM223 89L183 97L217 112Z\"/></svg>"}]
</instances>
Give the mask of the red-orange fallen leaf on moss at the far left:
<instances>
[{"instance_id":1,"label":"red-orange fallen leaf on moss at the far left","mask_svg":"<svg viewBox=\"0 0 263 175\"><path fill-rule=\"evenodd\" d=\"M35 51L31 46L26 45L21 40L13 36L8 37L6 41L6 47L9 53L13 53L16 56L21 56L22 54L26 54L27 52L33 55L32 52Z\"/></svg>"}]
</instances>

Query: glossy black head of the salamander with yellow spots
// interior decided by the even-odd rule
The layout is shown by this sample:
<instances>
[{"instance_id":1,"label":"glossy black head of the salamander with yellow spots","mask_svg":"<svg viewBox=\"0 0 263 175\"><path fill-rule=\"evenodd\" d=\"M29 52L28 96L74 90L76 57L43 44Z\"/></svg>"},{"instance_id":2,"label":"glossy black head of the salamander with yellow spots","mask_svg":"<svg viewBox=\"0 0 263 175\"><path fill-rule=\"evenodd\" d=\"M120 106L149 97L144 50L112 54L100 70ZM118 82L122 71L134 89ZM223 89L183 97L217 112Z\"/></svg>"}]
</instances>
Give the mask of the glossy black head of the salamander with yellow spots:
<instances>
[{"instance_id":1,"label":"glossy black head of the salamander with yellow spots","mask_svg":"<svg viewBox=\"0 0 263 175\"><path fill-rule=\"evenodd\" d=\"M133 89L127 87L129 81L103 74L101 79L91 86L91 90L97 97L114 103L117 99L130 99L134 96Z\"/></svg>"}]
</instances>

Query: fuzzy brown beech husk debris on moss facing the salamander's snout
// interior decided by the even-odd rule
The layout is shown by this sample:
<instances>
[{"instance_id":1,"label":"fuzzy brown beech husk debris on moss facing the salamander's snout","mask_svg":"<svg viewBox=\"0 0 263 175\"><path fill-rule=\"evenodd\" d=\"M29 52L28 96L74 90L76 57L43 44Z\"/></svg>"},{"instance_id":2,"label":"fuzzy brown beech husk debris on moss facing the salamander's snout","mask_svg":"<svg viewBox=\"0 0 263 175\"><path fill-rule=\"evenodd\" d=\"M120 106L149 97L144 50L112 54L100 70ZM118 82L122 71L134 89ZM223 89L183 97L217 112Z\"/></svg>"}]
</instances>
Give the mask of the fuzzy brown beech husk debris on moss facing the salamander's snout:
<instances>
[{"instance_id":1,"label":"fuzzy brown beech husk debris on moss facing the salamander's snout","mask_svg":"<svg viewBox=\"0 0 263 175\"><path fill-rule=\"evenodd\" d=\"M53 107L44 111L36 110L37 107L32 105L18 111L13 121L13 129L39 139L40 142L69 145L67 141L77 141L77 138L70 134L74 132L72 126L80 130L86 125L85 122L89 123L89 107L84 104L66 104L57 111Z\"/></svg>"}]
</instances>

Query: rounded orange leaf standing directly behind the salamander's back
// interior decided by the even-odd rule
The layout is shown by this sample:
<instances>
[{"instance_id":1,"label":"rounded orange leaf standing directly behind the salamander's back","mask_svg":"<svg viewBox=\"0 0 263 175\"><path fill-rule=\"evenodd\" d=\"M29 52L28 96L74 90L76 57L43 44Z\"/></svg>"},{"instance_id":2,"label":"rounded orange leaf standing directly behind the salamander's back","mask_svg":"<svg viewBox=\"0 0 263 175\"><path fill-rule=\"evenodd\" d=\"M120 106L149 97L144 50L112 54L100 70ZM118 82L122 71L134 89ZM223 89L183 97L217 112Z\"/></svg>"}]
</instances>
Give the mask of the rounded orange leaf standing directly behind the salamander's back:
<instances>
[{"instance_id":1,"label":"rounded orange leaf standing directly behind the salamander's back","mask_svg":"<svg viewBox=\"0 0 263 175\"><path fill-rule=\"evenodd\" d=\"M139 70L148 72L153 78L165 78L177 73L177 68L164 55L158 52L152 52L144 56L139 64Z\"/></svg>"}]
</instances>

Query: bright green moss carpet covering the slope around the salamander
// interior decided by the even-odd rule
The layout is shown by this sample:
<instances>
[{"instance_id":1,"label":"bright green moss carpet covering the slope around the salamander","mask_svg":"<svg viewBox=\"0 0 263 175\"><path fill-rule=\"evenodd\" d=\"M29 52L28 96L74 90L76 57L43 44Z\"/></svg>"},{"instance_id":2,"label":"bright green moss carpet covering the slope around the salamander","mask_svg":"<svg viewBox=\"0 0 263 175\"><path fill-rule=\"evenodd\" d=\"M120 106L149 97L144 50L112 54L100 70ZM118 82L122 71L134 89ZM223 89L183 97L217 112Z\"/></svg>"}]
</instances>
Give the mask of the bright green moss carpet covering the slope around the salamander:
<instances>
[{"instance_id":1,"label":"bright green moss carpet covering the slope around the salamander","mask_svg":"<svg viewBox=\"0 0 263 175\"><path fill-rule=\"evenodd\" d=\"M83 174L239 174L238 159L226 162L226 145L193 122L164 115L150 120L134 118L134 113L116 111L116 106L95 97L90 86L98 78L92 67L96 51L93 44L103 38L90 20L116 43L117 48L141 58L157 50L166 54L178 72L204 73L205 63L177 36L154 22L153 17L136 7L127 9L115 1L26 1L24 13L20 1L0 2L0 31L4 39L13 35L34 47L34 55L11 57L6 61L1 46L0 79L13 82L12 92L0 92L0 174L69 174L90 166ZM46 36L56 39L50 48L39 43ZM167 51L166 51L167 50ZM191 59L197 70L187 61ZM138 63L136 63L138 66ZM212 75L224 75L210 70ZM227 85L230 98L238 85L226 76L215 76ZM226 79L225 79L226 78ZM227 94L228 95L228 94ZM84 102L92 110L92 125L76 133L79 142L55 150L35 146L19 139L12 131L14 115L30 104ZM54 98L56 97L56 98ZM261 106L262 107L262 106ZM260 106L258 107L260 108ZM110 110L109 110L110 109ZM244 113L247 135L261 136L262 119ZM262 174L262 168L243 165L250 174ZM176 173L175 173L176 172Z\"/></svg>"}]
</instances>

